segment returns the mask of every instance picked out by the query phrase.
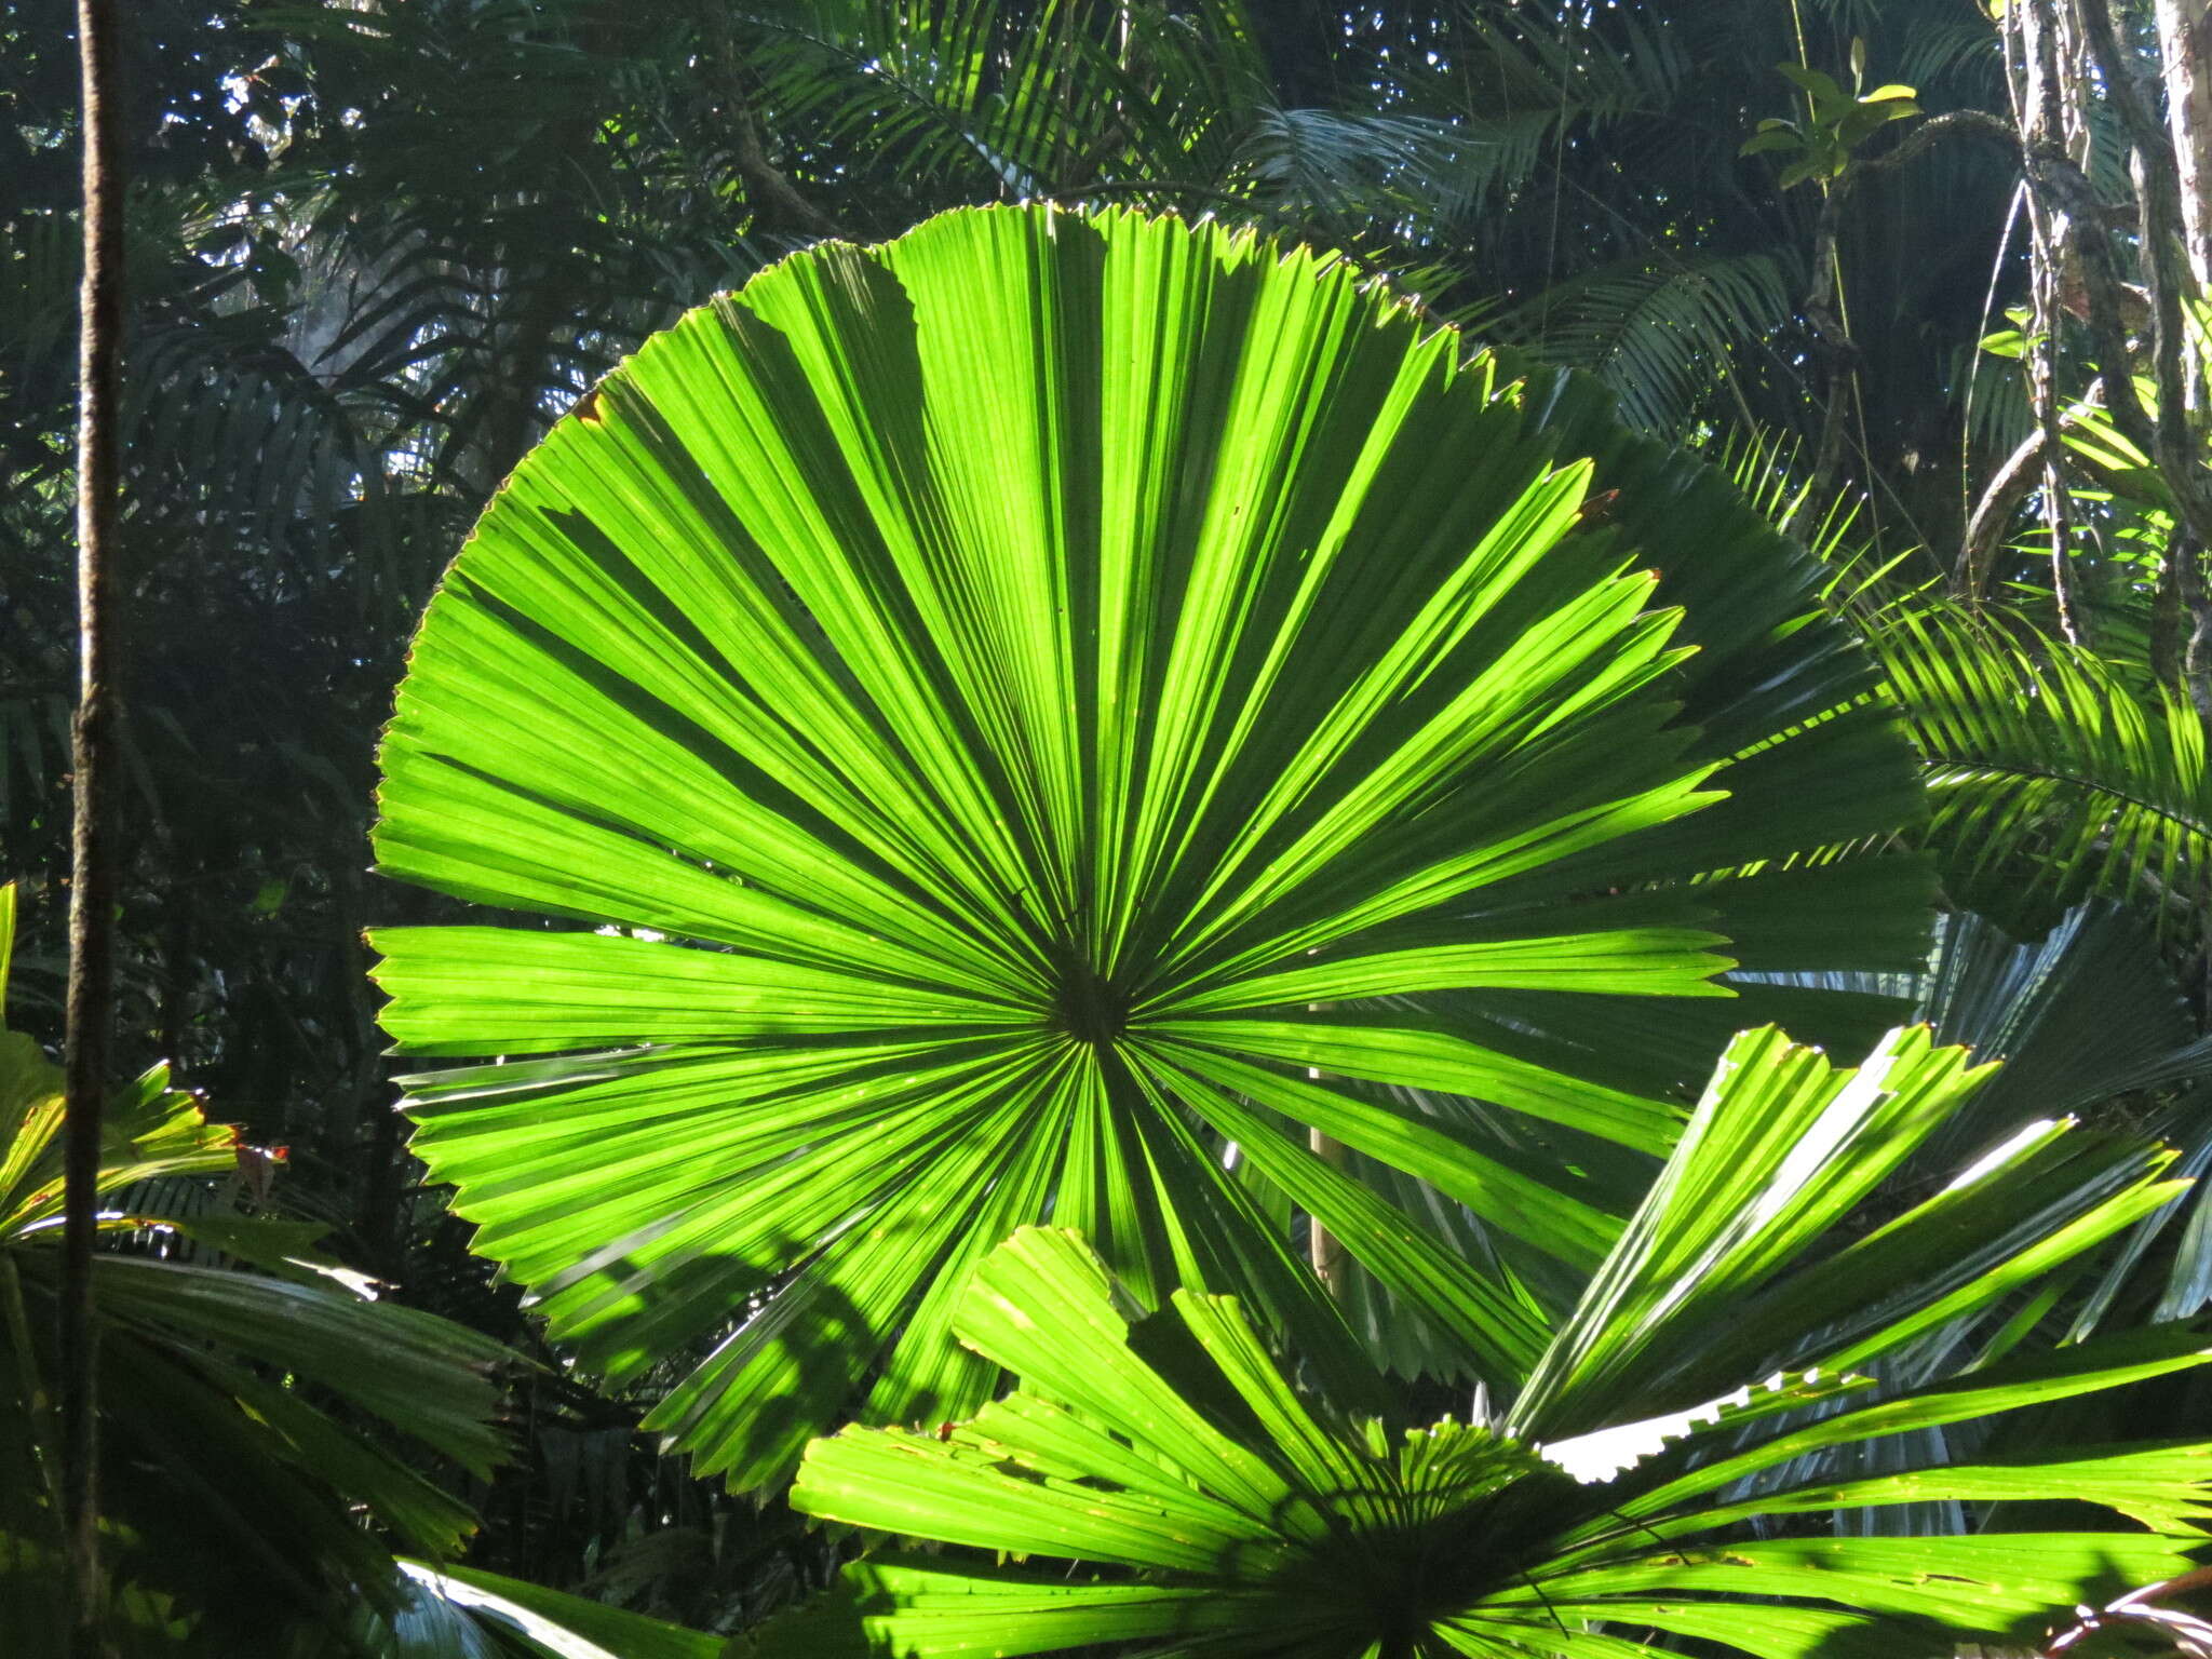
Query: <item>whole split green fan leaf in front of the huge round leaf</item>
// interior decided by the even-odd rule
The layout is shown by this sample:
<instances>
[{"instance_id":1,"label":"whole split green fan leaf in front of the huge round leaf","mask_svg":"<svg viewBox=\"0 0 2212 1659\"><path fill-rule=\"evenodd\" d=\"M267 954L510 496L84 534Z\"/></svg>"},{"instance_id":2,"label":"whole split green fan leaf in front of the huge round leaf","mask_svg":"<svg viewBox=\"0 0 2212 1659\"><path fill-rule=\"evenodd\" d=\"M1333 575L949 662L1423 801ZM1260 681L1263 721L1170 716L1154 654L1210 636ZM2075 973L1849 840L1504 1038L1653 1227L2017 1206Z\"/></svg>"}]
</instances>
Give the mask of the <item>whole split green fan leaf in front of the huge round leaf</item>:
<instances>
[{"instance_id":1,"label":"whole split green fan leaf in front of the huge round leaf","mask_svg":"<svg viewBox=\"0 0 2212 1659\"><path fill-rule=\"evenodd\" d=\"M1338 1411L1296 1385L1237 1298L1177 1290L1148 1316L1077 1234L1024 1228L984 1259L956 1318L1022 1385L960 1427L818 1440L792 1486L805 1513L956 1548L863 1557L841 1595L770 1626L763 1655L2039 1646L2077 1604L2190 1568L2212 1520L2212 1444L1796 1473L1809 1453L2212 1358L2201 1332L2168 1325L1907 1389L1851 1371L2174 1192L2168 1155L2051 1126L1863 1232L1865 1194L1975 1084L1966 1051L1920 1031L1856 1073L1745 1033L1535 1378L1486 1422ZM1962 1254L1960 1239L1978 1243ZM1969 1506L1973 1526L1812 1533L1838 1509L1929 1500ZM2110 1511L2106 1531L2008 1528L2004 1504L2055 1500Z\"/></svg>"}]
</instances>

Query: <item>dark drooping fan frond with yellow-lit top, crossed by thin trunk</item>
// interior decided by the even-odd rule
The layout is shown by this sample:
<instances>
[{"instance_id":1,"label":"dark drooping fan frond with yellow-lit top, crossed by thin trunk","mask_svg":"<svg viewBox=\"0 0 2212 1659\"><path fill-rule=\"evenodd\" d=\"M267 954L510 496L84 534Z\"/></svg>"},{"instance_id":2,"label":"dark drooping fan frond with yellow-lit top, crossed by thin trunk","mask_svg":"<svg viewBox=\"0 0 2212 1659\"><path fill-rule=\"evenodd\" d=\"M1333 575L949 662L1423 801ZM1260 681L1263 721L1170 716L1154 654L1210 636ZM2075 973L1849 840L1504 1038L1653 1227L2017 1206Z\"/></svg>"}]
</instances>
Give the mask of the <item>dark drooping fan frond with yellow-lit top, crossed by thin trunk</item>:
<instances>
[{"instance_id":1,"label":"dark drooping fan frond with yellow-lit top, crossed by thin trunk","mask_svg":"<svg viewBox=\"0 0 2212 1659\"><path fill-rule=\"evenodd\" d=\"M11 925L9 887L0 938ZM42 1378L55 1376L62 1126L60 1066L29 1035L0 1031L0 1540L29 1544L55 1537L58 1515ZM102 1232L184 1234L241 1263L106 1250L93 1263L115 1571L208 1639L292 1619L316 1628L358 1599L389 1599L392 1557L363 1515L411 1548L449 1553L476 1517L420 1453L478 1478L504 1455L491 1422L498 1343L376 1301L358 1274L312 1254L319 1225L159 1203L230 1175L239 1157L237 1130L210 1124L161 1066L106 1104Z\"/></svg>"}]
</instances>

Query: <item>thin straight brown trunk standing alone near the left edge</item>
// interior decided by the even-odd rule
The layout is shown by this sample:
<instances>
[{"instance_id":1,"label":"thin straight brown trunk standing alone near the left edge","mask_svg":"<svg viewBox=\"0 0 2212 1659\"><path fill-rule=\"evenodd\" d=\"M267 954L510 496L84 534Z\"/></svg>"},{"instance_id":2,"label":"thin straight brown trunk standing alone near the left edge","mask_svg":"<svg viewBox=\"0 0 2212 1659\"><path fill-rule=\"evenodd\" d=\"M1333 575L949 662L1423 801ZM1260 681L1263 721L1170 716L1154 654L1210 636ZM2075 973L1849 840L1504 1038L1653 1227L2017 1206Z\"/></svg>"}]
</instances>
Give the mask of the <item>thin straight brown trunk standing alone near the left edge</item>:
<instances>
[{"instance_id":1,"label":"thin straight brown trunk standing alone near the left edge","mask_svg":"<svg viewBox=\"0 0 2212 1659\"><path fill-rule=\"evenodd\" d=\"M64 1040L64 1199L60 1387L62 1517L69 1535L71 1639L104 1652L100 1484L93 1400L93 1232L100 1108L115 1020L115 392L122 352L122 146L115 104L115 0L77 0L84 84L84 290L77 336L77 712L71 728L75 823L69 889Z\"/></svg>"}]
</instances>

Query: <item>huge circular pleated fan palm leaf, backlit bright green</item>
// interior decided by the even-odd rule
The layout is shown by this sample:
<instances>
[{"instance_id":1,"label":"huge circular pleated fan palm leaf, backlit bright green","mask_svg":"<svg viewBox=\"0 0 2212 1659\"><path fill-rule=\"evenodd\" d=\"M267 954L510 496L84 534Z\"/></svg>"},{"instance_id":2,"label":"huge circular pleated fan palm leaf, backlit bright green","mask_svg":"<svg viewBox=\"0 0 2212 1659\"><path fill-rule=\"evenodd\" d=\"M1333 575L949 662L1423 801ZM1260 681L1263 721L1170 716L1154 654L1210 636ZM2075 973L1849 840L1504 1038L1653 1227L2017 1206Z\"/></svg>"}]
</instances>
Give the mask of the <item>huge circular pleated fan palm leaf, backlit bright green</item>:
<instances>
[{"instance_id":1,"label":"huge circular pleated fan palm leaf, backlit bright green","mask_svg":"<svg viewBox=\"0 0 2212 1659\"><path fill-rule=\"evenodd\" d=\"M1920 799L1812 584L1314 252L1000 208L792 257L425 617L380 867L584 927L376 933L400 1048L491 1057L414 1150L580 1363L686 1358L650 1420L739 1484L980 1405L953 1294L1029 1221L1343 1380L1318 1219L1509 1385L1540 1298L1310 1135L1586 1270L1632 1188L1555 1148L1661 1155L1814 995L1723 971L1922 960L1916 860L1798 867Z\"/></svg>"}]
</instances>

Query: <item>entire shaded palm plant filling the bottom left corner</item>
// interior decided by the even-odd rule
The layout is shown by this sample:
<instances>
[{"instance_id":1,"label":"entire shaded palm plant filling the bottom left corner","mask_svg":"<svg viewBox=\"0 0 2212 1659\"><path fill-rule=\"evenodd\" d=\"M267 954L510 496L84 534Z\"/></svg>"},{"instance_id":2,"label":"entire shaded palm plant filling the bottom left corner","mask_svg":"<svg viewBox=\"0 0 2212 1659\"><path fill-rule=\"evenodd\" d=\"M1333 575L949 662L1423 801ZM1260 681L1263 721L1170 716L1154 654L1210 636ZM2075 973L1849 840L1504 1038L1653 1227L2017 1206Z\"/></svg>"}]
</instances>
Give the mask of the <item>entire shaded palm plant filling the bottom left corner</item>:
<instances>
[{"instance_id":1,"label":"entire shaded palm plant filling the bottom left corner","mask_svg":"<svg viewBox=\"0 0 2212 1659\"><path fill-rule=\"evenodd\" d=\"M0 1011L15 889L0 887ZM0 1650L55 1655L53 1303L62 1071L0 1024ZM157 1066L108 1099L100 1310L104 1641L122 1659L712 1659L708 1637L458 1566L476 1515L445 1469L507 1458L478 1332L378 1298L257 1212L281 1150L248 1146ZM425 1455L429 1453L429 1455ZM372 1520L374 1528L365 1528ZM429 1559L396 1555L420 1551ZM522 1615L520 1619L515 1615ZM553 1646L546 1646L546 1637Z\"/></svg>"}]
</instances>

